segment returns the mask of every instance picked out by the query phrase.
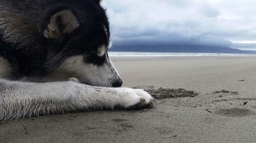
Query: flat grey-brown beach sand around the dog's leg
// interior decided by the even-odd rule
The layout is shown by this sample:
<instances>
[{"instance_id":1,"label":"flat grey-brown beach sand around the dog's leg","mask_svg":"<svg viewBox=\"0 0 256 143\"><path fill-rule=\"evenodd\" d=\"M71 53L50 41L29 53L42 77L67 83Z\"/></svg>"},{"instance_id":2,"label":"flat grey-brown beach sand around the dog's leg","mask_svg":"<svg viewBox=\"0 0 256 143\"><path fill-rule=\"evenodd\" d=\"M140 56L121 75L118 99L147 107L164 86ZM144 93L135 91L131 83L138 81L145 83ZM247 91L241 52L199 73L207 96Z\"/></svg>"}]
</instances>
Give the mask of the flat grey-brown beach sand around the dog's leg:
<instances>
[{"instance_id":1,"label":"flat grey-brown beach sand around the dog's leg","mask_svg":"<svg viewBox=\"0 0 256 143\"><path fill-rule=\"evenodd\" d=\"M2 122L0 142L256 142L256 58L113 61L124 87L157 97L152 109Z\"/></svg>"}]
</instances>

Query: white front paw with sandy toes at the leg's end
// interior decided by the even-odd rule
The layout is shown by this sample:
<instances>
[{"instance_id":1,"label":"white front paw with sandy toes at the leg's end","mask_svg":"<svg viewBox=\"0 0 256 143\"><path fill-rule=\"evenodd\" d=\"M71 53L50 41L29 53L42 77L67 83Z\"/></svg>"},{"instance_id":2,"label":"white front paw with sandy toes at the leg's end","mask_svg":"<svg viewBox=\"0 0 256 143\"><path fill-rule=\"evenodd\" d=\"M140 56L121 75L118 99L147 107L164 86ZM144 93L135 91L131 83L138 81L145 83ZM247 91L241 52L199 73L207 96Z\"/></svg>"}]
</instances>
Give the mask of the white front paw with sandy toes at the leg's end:
<instances>
[{"instance_id":1,"label":"white front paw with sandy toes at the leg's end","mask_svg":"<svg viewBox=\"0 0 256 143\"><path fill-rule=\"evenodd\" d=\"M126 98L125 109L138 110L152 107L153 97L140 89L122 89Z\"/></svg>"}]
</instances>

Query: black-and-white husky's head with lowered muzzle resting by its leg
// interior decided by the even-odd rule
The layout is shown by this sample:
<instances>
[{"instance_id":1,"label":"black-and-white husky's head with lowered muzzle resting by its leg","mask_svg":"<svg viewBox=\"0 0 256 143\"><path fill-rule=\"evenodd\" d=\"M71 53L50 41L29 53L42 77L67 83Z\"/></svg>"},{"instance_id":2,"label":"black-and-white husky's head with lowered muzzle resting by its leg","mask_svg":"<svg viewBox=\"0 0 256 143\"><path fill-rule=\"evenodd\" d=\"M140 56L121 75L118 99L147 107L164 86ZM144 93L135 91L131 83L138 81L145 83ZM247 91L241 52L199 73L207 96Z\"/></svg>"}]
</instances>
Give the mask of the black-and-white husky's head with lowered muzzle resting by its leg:
<instances>
[{"instance_id":1,"label":"black-and-white husky's head with lowered muzzle resting by its leg","mask_svg":"<svg viewBox=\"0 0 256 143\"><path fill-rule=\"evenodd\" d=\"M75 77L94 86L121 87L122 80L108 56L111 42L105 10L100 1L79 2L53 6L41 26L49 48L45 65L51 71L49 77Z\"/></svg>"}]
</instances>

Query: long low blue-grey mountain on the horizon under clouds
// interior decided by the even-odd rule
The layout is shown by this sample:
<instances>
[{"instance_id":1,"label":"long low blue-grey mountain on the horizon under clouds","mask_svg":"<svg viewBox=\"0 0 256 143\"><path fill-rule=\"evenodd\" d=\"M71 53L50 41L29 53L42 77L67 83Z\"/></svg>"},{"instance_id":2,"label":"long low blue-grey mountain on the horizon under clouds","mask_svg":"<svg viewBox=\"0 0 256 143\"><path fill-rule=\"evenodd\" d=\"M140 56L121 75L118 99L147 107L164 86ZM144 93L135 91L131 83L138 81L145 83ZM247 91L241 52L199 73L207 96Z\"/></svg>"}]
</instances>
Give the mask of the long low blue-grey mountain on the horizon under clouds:
<instances>
[{"instance_id":1,"label":"long low blue-grey mountain on the horizon under clouds","mask_svg":"<svg viewBox=\"0 0 256 143\"><path fill-rule=\"evenodd\" d=\"M229 47L201 45L117 45L110 51L136 52L197 52L197 53L256 53L256 51L239 50Z\"/></svg>"}]
</instances>

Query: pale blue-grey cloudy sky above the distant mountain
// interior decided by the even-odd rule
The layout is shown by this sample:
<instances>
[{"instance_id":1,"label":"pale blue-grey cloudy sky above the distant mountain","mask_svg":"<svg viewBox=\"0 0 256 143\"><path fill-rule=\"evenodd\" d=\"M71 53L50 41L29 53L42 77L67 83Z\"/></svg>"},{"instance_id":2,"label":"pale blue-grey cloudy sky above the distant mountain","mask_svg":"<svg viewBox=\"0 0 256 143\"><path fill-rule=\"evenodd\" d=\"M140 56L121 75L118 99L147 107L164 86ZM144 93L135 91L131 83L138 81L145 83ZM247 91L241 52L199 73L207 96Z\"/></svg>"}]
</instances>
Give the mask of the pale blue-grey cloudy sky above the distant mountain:
<instances>
[{"instance_id":1,"label":"pale blue-grey cloudy sky above the distant mountain","mask_svg":"<svg viewBox=\"0 0 256 143\"><path fill-rule=\"evenodd\" d=\"M114 44L200 44L256 50L255 0L104 0Z\"/></svg>"}]
</instances>

